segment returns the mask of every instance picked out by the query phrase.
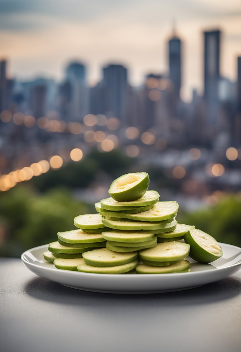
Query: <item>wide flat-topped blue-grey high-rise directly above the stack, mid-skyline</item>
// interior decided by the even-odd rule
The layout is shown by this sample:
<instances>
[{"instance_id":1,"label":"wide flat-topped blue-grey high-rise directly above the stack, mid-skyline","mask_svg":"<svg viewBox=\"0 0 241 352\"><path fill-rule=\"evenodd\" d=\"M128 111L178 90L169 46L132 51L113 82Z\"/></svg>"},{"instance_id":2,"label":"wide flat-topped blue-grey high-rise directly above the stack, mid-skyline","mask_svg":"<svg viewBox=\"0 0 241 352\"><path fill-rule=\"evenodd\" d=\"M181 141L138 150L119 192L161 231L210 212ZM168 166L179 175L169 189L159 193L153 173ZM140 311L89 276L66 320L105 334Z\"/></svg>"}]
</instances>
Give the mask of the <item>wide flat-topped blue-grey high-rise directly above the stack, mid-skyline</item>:
<instances>
[{"instance_id":1,"label":"wide flat-topped blue-grey high-rise directly above the stack, mid-skyline","mask_svg":"<svg viewBox=\"0 0 241 352\"><path fill-rule=\"evenodd\" d=\"M105 87L105 112L124 122L128 90L127 69L115 64L104 67L103 86Z\"/></svg>"}]
</instances>

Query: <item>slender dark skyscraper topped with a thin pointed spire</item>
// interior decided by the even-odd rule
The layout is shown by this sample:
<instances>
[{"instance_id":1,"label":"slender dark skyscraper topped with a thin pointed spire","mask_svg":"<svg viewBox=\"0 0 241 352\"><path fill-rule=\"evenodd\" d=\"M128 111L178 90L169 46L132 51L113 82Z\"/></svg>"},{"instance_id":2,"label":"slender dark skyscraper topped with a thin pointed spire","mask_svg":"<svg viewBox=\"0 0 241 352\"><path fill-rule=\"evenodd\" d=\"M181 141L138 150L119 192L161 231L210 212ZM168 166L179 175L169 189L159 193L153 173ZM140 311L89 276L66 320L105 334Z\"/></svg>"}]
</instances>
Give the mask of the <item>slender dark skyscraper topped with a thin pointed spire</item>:
<instances>
[{"instance_id":1,"label":"slender dark skyscraper topped with a thin pointed spire","mask_svg":"<svg viewBox=\"0 0 241 352\"><path fill-rule=\"evenodd\" d=\"M177 37L175 21L173 21L172 37L168 41L169 78L173 83L174 96L180 99L181 88L181 40Z\"/></svg>"}]
</instances>

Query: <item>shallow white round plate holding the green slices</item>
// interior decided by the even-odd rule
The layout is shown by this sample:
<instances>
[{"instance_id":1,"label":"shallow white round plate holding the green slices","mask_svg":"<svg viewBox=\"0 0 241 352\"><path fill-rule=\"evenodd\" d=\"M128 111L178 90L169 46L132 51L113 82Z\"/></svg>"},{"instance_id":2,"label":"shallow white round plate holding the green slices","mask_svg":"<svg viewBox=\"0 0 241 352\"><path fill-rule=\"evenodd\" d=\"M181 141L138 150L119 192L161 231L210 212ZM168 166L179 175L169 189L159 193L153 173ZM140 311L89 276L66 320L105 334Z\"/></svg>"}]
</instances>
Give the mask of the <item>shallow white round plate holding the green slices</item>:
<instances>
[{"instance_id":1,"label":"shallow white round plate holding the green slices","mask_svg":"<svg viewBox=\"0 0 241 352\"><path fill-rule=\"evenodd\" d=\"M241 248L221 243L223 256L212 264L194 262L191 272L177 274L89 274L59 270L43 258L48 245L32 248L21 255L26 267L51 281L71 288L103 293L160 293L187 290L221 280L241 269Z\"/></svg>"}]
</instances>

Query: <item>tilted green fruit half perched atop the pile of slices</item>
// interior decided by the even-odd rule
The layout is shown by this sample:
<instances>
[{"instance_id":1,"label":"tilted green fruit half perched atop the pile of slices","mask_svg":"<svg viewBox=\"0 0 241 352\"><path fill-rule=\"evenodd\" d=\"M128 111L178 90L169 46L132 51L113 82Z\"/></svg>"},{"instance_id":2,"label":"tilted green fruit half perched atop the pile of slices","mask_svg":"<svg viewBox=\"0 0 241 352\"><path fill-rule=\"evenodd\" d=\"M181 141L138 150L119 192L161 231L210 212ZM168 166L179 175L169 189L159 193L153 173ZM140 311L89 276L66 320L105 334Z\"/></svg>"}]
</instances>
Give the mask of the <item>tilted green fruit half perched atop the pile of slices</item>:
<instances>
[{"instance_id":1,"label":"tilted green fruit half perched atop the pile of slices","mask_svg":"<svg viewBox=\"0 0 241 352\"><path fill-rule=\"evenodd\" d=\"M149 187L147 172L133 172L116 178L110 185L109 194L117 202L131 202L141 198Z\"/></svg>"}]
</instances>

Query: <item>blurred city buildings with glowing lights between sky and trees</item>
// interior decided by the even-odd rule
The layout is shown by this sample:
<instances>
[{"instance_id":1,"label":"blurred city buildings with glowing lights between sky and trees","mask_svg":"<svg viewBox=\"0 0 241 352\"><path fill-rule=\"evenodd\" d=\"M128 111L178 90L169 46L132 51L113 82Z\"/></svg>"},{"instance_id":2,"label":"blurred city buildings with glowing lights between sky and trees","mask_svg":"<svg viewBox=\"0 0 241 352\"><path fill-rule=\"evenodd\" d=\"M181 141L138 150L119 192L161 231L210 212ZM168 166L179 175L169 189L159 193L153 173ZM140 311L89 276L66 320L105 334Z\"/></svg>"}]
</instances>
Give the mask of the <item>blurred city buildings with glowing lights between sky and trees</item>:
<instances>
[{"instance_id":1,"label":"blurred city buildings with glowing lights between sky and trees","mask_svg":"<svg viewBox=\"0 0 241 352\"><path fill-rule=\"evenodd\" d=\"M182 161L174 151L186 152L195 162L191 171L196 172L196 178L200 167L201 173L206 170L205 180L223 176L224 183L239 189L241 56L236 58L233 82L220 72L221 31L205 31L203 39L204 93L200 96L193 89L189 103L180 98L183 43L175 31L167 43L169 72L150 72L139 87L129 84L128 69L121 64L103 67L100 82L89 87L82 62L70 62L61 83L45 77L23 82L8 78L7 61L2 59L1 174L55 154L64 161L66 150L78 147L81 153L87 153L97 144L102 151L119 146L130 157L147 156L148 148L152 148L150 160L176 168L172 176L180 179L187 176L189 162ZM155 157L160 153L161 159ZM225 168L229 171L224 178ZM10 187L5 188L0 187Z\"/></svg>"}]
</instances>

